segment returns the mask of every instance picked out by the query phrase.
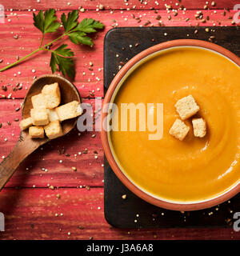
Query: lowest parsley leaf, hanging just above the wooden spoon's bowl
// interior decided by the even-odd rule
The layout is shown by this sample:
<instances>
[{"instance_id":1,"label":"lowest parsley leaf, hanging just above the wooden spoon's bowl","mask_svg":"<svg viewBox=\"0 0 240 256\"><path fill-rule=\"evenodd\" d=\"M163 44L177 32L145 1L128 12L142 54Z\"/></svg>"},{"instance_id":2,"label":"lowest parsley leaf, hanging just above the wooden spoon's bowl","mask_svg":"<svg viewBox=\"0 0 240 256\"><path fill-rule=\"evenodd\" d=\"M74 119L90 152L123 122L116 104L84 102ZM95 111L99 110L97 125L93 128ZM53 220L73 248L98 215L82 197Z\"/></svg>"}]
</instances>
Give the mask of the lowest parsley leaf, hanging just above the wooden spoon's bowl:
<instances>
[{"instance_id":1,"label":"lowest parsley leaf, hanging just above the wooden spoon's bowl","mask_svg":"<svg viewBox=\"0 0 240 256\"><path fill-rule=\"evenodd\" d=\"M50 58L50 67L53 73L57 70L62 72L64 76L68 76L70 78L74 78L75 70L74 70L74 60L70 58L74 56L74 53L66 48L67 45L63 44L59 46L56 50L53 50Z\"/></svg>"}]
</instances>

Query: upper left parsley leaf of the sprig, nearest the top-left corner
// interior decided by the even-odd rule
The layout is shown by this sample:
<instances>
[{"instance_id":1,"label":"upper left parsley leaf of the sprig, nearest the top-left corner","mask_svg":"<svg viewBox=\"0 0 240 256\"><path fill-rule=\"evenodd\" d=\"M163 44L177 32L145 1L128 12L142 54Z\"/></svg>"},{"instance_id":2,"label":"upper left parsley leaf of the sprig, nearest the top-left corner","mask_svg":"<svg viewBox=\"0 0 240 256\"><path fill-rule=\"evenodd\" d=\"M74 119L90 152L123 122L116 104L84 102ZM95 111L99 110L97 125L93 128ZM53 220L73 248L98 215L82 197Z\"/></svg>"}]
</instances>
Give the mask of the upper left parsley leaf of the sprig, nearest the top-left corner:
<instances>
[{"instance_id":1,"label":"upper left parsley leaf of the sprig, nearest the top-left corner","mask_svg":"<svg viewBox=\"0 0 240 256\"><path fill-rule=\"evenodd\" d=\"M61 25L56 22L56 19L56 11L54 9L46 10L44 14L40 10L37 15L34 14L34 26L41 30L42 34L55 32Z\"/></svg>"}]
</instances>

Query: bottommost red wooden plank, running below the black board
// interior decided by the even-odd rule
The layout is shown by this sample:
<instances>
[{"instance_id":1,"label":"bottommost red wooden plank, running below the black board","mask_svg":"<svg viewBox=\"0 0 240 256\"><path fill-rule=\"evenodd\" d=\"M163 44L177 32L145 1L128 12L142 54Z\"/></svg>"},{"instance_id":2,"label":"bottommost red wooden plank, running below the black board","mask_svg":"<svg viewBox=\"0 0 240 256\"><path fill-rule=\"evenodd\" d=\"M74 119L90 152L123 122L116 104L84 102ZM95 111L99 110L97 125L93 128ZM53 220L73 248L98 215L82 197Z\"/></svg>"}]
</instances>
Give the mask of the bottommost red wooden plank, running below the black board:
<instances>
[{"instance_id":1,"label":"bottommost red wooden plank, running below the black board","mask_svg":"<svg viewBox=\"0 0 240 256\"><path fill-rule=\"evenodd\" d=\"M57 198L60 194L61 198ZM124 203L123 205L124 206ZM0 239L235 239L239 232L225 229L115 229L104 219L103 189L4 189L0 211L6 231ZM138 214L138 213L136 213ZM57 215L57 216L56 216ZM136 216L130 216L133 222ZM187 216L186 216L187 221ZM141 222L141 215L138 217ZM138 225L138 222L136 226Z\"/></svg>"}]
</instances>

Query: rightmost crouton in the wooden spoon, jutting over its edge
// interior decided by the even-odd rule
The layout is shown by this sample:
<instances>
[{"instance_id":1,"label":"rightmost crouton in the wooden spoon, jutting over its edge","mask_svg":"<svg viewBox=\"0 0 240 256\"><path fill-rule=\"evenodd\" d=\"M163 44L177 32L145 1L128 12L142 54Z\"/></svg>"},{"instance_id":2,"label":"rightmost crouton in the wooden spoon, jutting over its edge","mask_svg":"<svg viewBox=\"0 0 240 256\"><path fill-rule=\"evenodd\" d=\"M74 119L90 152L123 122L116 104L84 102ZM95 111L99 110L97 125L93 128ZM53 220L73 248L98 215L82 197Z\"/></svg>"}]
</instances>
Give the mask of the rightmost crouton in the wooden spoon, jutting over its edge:
<instances>
[{"instance_id":1,"label":"rightmost crouton in the wooden spoon, jutting over its edge","mask_svg":"<svg viewBox=\"0 0 240 256\"><path fill-rule=\"evenodd\" d=\"M73 101L69 102L65 105L58 106L56 108L56 112L58 114L58 118L60 121L64 121L70 118L76 118L78 115L82 114L82 107L79 102Z\"/></svg>"}]
</instances>

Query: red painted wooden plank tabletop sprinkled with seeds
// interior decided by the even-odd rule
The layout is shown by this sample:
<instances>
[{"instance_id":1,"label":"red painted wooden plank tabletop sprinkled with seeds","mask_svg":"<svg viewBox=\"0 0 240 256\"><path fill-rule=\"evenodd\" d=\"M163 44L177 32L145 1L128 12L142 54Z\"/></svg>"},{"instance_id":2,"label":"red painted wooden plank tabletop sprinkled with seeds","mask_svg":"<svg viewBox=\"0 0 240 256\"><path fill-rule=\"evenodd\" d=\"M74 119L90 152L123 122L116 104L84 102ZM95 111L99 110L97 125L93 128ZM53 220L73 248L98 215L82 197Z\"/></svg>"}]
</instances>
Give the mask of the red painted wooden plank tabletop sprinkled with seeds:
<instances>
[{"instance_id":1,"label":"red painted wooden plank tabletop sprinkled with seeds","mask_svg":"<svg viewBox=\"0 0 240 256\"><path fill-rule=\"evenodd\" d=\"M33 11L84 8L80 18L94 18L106 26L94 39L94 48L76 46L66 39L76 55L74 84L83 102L94 105L103 98L103 38L114 26L238 26L234 5L238 0L1 0L5 23L0 24L0 67L38 48L41 34L33 26ZM99 4L104 6L99 10ZM100 9L102 9L102 6ZM171 7L171 8L170 8ZM174 10L168 10L174 9ZM156 14L158 10L158 14ZM177 10L177 11L175 11ZM201 10L206 20L195 14ZM174 14L175 13L175 14ZM46 36L47 40L47 36ZM34 76L50 74L50 55L40 53L0 74L0 158L13 149L19 135L22 99ZM93 70L89 70L89 62ZM94 75L92 74L94 73ZM18 85L22 90L15 90ZM2 86L6 86L2 90ZM94 90L94 93L93 93ZM92 136L95 134L96 136ZM87 154L86 153L87 149ZM59 151L65 152L59 154ZM96 158L96 151L98 158ZM77 171L72 170L76 167ZM6 231L0 239L239 239L240 232L227 229L118 230L103 214L103 151L100 134L78 130L42 146L18 168L0 193L0 212Z\"/></svg>"}]
</instances>

